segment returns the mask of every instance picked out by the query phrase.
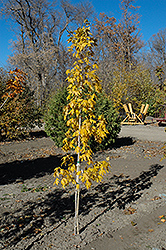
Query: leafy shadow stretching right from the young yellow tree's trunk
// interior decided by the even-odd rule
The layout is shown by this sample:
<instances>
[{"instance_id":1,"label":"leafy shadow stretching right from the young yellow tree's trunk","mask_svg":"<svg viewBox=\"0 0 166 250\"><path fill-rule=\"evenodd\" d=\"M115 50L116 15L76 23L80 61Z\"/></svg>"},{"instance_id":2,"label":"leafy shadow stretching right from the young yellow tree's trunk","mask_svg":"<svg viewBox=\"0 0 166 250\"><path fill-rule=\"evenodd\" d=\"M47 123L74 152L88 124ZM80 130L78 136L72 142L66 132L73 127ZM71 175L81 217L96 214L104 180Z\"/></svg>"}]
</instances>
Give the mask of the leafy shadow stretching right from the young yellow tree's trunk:
<instances>
[{"instance_id":1,"label":"leafy shadow stretching right from the young yellow tree's trunk","mask_svg":"<svg viewBox=\"0 0 166 250\"><path fill-rule=\"evenodd\" d=\"M85 192L84 198L81 200L82 213L87 214L89 209L94 206L103 207L103 210L92 221L80 230L83 232L97 218L104 214L107 210L115 207L125 209L127 204L139 199L143 190L149 189L152 185L151 179L158 174L164 166L155 164L150 166L148 171L143 171L134 179L122 174L111 177L110 182L99 184L95 187L96 193L89 194ZM112 190L114 189L114 190Z\"/></svg>"}]
</instances>

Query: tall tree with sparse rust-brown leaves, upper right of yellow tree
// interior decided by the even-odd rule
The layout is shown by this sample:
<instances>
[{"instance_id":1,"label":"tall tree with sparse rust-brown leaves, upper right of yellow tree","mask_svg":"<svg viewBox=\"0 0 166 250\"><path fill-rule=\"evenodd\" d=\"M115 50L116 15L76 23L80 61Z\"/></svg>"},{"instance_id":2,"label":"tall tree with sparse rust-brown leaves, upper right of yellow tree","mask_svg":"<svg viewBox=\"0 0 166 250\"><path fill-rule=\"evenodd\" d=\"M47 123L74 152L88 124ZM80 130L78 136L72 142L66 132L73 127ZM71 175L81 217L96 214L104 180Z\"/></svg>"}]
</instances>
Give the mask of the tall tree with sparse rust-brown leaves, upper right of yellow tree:
<instances>
[{"instance_id":1,"label":"tall tree with sparse rust-brown leaves, upper right of yellow tree","mask_svg":"<svg viewBox=\"0 0 166 250\"><path fill-rule=\"evenodd\" d=\"M136 55L143 47L139 35L139 15L135 13L137 7L132 5L134 0L120 0L122 18L120 22L114 17L101 14L96 19L95 32L98 38L100 78L107 93L112 90L114 70L119 74L125 70L132 70L137 64Z\"/></svg>"}]
</instances>

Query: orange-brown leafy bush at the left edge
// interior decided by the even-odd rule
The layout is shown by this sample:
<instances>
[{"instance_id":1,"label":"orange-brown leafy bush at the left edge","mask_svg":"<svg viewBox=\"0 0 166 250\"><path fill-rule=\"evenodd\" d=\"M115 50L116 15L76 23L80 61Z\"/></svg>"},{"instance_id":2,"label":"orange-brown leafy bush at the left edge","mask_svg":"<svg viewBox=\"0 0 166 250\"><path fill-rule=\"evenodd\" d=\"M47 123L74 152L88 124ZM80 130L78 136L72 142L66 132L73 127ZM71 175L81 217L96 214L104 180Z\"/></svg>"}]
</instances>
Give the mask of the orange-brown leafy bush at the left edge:
<instances>
[{"instance_id":1,"label":"orange-brown leafy bush at the left edge","mask_svg":"<svg viewBox=\"0 0 166 250\"><path fill-rule=\"evenodd\" d=\"M15 140L40 126L41 112L36 108L33 92L26 86L26 74L15 69L0 84L0 140Z\"/></svg>"}]
</instances>

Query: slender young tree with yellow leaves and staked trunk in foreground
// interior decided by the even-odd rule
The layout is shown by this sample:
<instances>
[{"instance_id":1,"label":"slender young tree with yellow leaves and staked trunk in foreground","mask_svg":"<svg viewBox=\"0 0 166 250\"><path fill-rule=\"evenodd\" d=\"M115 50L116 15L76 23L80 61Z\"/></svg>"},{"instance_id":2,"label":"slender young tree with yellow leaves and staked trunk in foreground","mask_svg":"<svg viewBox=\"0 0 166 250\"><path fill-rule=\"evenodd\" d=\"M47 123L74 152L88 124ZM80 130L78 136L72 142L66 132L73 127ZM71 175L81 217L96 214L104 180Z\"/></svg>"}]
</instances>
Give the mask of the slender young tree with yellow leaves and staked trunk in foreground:
<instances>
[{"instance_id":1,"label":"slender young tree with yellow leaves and staked trunk in foreground","mask_svg":"<svg viewBox=\"0 0 166 250\"><path fill-rule=\"evenodd\" d=\"M69 183L75 186L75 222L74 235L79 234L78 210L80 184L85 184L89 189L92 181L101 181L103 175L109 171L108 161L94 162L92 149L88 145L93 136L97 142L108 133L105 119L101 115L95 117L93 110L96 103L96 93L101 92L100 80L96 75L97 64L93 61L93 48L97 45L96 40L90 33L88 21L82 28L70 32L68 42L71 43L69 52L73 53L75 62L73 68L67 70L68 104L65 107L65 120L68 131L63 140L63 150L67 154L62 159L62 168L55 168L55 184L61 183L65 188ZM69 153L75 150L77 163ZM86 161L86 167L81 169L81 162ZM63 169L65 166L65 169ZM66 169L67 168L67 169Z\"/></svg>"}]
</instances>

